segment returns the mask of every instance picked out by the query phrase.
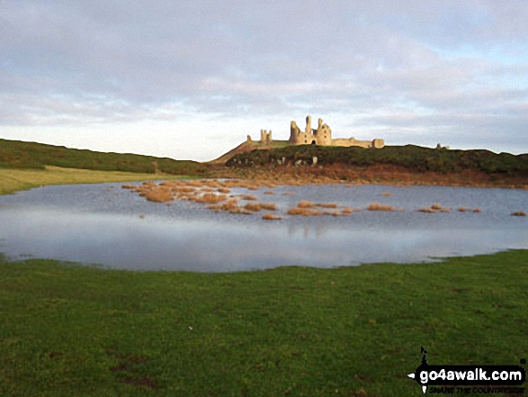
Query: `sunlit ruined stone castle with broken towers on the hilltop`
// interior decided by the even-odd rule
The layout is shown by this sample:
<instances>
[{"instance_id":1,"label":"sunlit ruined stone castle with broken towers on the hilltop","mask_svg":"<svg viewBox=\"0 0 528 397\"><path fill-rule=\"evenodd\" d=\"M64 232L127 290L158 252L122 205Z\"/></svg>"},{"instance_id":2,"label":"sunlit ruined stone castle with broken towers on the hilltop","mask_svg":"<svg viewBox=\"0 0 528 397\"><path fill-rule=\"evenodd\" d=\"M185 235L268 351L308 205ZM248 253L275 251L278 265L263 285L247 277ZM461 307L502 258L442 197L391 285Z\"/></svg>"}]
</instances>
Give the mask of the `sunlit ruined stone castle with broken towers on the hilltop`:
<instances>
[{"instance_id":1,"label":"sunlit ruined stone castle with broken towers on the hilltop","mask_svg":"<svg viewBox=\"0 0 528 397\"><path fill-rule=\"evenodd\" d=\"M248 140L251 140L249 136ZM272 131L260 131L260 142L272 143ZM290 124L290 140L288 143L291 145L321 145L321 146L361 146L362 148L376 148L380 149L385 146L385 142L380 139L375 140L354 140L353 138L348 139L332 139L332 130L327 124L323 124L323 120L318 120L318 128L311 128L311 117L306 118L306 128L304 131L300 131L297 123L291 121Z\"/></svg>"}]
</instances>

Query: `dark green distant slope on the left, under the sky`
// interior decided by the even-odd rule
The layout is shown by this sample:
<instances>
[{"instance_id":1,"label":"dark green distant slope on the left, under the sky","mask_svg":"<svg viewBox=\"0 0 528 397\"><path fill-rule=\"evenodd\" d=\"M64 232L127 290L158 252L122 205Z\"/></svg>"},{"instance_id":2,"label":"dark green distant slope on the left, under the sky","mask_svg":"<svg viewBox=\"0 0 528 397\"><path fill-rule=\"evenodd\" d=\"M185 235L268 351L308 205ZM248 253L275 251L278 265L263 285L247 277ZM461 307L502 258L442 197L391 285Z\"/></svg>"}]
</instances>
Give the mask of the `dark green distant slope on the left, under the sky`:
<instances>
[{"instance_id":1,"label":"dark green distant slope on the left, under the sky","mask_svg":"<svg viewBox=\"0 0 528 397\"><path fill-rule=\"evenodd\" d=\"M208 171L208 167L196 161L0 140L0 168L44 169L45 166L172 175L203 175Z\"/></svg>"}]
</instances>

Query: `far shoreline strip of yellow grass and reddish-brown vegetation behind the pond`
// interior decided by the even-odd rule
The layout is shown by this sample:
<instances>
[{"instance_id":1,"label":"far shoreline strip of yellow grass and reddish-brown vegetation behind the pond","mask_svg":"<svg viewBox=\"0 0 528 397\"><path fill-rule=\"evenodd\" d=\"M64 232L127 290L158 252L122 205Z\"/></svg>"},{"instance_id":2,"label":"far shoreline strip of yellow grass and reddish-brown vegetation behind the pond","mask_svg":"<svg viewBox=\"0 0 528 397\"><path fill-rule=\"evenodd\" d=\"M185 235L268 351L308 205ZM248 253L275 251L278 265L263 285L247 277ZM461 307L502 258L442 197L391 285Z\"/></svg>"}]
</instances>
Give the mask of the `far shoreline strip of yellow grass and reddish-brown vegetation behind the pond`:
<instances>
[{"instance_id":1,"label":"far shoreline strip of yellow grass and reddish-brown vegetation behind the pond","mask_svg":"<svg viewBox=\"0 0 528 397\"><path fill-rule=\"evenodd\" d=\"M78 185L98 183L142 182L175 179L243 179L257 185L388 185L410 187L451 186L528 190L521 178L492 180L493 176L463 172L440 174L417 173L394 167L211 167L210 176L168 174L135 174L119 171L94 171L79 168L47 166L45 170L0 169L0 194L13 194L43 185Z\"/></svg>"}]
</instances>

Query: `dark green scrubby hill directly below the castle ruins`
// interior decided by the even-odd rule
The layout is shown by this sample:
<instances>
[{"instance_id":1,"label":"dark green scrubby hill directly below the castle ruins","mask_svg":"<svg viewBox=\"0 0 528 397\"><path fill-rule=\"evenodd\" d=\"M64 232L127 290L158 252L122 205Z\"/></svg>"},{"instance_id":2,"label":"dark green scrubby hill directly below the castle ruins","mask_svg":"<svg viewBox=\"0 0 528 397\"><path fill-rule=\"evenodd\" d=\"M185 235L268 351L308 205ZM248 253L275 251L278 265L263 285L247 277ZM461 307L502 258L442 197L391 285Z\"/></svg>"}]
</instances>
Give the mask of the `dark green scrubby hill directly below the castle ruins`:
<instances>
[{"instance_id":1,"label":"dark green scrubby hill directly below the castle ruins","mask_svg":"<svg viewBox=\"0 0 528 397\"><path fill-rule=\"evenodd\" d=\"M341 164L352 167L391 165L412 171L455 173L476 170L486 174L528 176L528 154L512 155L489 150L428 149L414 145L387 146L382 149L288 146L281 149L256 149L240 153L226 163L230 167L270 166L272 164L304 162L311 165L317 157L318 166Z\"/></svg>"}]
</instances>

